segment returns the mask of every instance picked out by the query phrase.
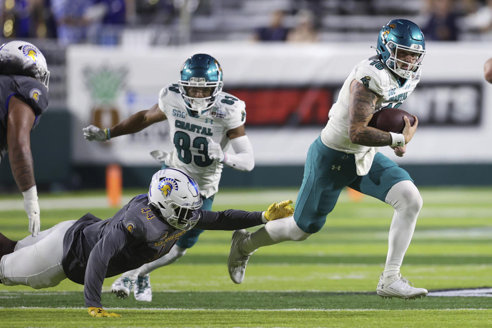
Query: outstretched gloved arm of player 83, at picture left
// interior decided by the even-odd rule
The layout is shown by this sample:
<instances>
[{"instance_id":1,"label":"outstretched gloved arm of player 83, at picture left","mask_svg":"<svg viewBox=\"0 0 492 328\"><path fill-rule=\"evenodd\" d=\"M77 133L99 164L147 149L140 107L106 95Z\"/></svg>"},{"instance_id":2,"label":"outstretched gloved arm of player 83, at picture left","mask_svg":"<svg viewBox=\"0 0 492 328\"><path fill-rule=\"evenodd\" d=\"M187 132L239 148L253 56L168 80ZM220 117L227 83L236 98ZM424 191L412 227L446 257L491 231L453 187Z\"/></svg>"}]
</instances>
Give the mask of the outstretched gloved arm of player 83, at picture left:
<instances>
[{"instance_id":1,"label":"outstretched gloved arm of player 83, at picture left","mask_svg":"<svg viewBox=\"0 0 492 328\"><path fill-rule=\"evenodd\" d=\"M167 119L166 114L159 109L158 104L155 104L151 109L139 111L112 128L103 130L90 125L82 129L82 131L84 132L84 138L89 141L106 141L120 135L136 133L165 119Z\"/></svg>"}]
</instances>

